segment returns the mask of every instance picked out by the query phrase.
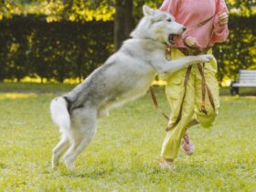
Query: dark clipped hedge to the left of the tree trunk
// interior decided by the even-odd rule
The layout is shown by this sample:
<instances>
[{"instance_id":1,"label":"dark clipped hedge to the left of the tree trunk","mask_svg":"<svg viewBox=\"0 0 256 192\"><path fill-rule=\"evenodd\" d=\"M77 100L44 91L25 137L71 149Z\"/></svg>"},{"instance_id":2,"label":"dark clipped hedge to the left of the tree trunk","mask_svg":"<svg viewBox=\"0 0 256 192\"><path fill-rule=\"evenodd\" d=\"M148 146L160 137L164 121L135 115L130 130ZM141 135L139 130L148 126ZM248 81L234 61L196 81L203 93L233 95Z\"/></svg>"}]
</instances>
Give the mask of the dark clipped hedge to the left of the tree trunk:
<instances>
[{"instance_id":1,"label":"dark clipped hedge to the left of the tree trunk","mask_svg":"<svg viewBox=\"0 0 256 192\"><path fill-rule=\"evenodd\" d=\"M83 79L113 50L112 22L47 23L40 16L0 22L0 80Z\"/></svg>"}]
</instances>

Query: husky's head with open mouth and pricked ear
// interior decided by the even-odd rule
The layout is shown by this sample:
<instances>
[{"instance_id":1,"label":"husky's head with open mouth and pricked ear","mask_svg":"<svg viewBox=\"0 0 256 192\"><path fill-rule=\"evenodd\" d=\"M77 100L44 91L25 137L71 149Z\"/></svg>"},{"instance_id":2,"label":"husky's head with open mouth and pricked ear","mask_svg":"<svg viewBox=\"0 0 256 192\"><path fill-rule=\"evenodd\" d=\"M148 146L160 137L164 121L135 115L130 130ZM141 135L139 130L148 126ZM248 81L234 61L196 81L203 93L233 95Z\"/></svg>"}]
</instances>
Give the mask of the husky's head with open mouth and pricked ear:
<instances>
[{"instance_id":1,"label":"husky's head with open mouth and pricked ear","mask_svg":"<svg viewBox=\"0 0 256 192\"><path fill-rule=\"evenodd\" d=\"M175 44L174 37L181 35L186 27L176 23L174 16L167 12L143 6L144 18L131 34L132 37L149 37L168 45Z\"/></svg>"}]
</instances>

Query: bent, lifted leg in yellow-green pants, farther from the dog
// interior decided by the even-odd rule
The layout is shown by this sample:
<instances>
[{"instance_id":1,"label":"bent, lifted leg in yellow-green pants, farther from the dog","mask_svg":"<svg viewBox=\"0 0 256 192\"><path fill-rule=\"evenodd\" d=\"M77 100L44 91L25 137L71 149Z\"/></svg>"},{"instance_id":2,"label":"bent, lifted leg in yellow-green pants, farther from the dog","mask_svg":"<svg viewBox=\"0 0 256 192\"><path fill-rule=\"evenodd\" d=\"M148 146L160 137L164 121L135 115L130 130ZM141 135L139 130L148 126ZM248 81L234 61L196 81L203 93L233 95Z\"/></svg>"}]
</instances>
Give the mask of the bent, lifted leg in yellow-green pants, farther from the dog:
<instances>
[{"instance_id":1,"label":"bent, lifted leg in yellow-green pants, farther from the dog","mask_svg":"<svg viewBox=\"0 0 256 192\"><path fill-rule=\"evenodd\" d=\"M206 90L206 110L207 114L201 111L201 102L202 102L202 77L197 70L196 73L196 114L197 114L197 121L200 125L204 128L208 128L212 126L214 123L216 116L218 114L219 108L219 83L216 78L217 73L217 62L216 59L212 59L210 62L205 64L204 67L204 74L206 84L211 92L212 99L215 105L215 111L209 101L208 92Z\"/></svg>"}]
</instances>

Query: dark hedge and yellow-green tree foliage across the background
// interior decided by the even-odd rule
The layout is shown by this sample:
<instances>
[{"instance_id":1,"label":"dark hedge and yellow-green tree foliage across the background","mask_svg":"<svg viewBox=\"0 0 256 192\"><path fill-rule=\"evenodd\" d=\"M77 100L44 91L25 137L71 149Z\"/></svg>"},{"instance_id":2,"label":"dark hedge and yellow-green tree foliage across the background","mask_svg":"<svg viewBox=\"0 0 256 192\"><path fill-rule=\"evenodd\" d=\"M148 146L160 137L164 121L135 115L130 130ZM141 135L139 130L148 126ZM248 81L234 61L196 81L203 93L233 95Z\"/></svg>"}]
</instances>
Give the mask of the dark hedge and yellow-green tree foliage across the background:
<instances>
[{"instance_id":1,"label":"dark hedge and yellow-green tree foliage across the background","mask_svg":"<svg viewBox=\"0 0 256 192\"><path fill-rule=\"evenodd\" d=\"M255 0L226 2L229 40L214 48L220 81L256 69ZM0 80L85 78L129 36L145 3L162 0L1 1Z\"/></svg>"}]
</instances>

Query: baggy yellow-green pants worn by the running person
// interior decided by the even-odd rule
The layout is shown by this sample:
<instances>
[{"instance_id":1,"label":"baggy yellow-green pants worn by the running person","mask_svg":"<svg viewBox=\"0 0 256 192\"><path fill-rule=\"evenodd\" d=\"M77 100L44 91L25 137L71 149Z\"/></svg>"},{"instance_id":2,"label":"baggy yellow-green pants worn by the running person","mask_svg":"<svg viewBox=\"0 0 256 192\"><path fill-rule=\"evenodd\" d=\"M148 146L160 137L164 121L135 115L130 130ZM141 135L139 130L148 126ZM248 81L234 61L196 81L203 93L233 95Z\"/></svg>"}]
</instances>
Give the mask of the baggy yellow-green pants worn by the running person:
<instances>
[{"instance_id":1,"label":"baggy yellow-green pants worn by the running person","mask_svg":"<svg viewBox=\"0 0 256 192\"><path fill-rule=\"evenodd\" d=\"M211 53L211 50L209 50L208 53ZM171 59L178 59L182 57L185 56L178 49L173 48L171 50ZM186 78L186 73L187 69L180 69L175 74L165 79L167 82L165 86L165 94L172 110L169 123L176 122L185 92L184 80ZM166 133L162 146L161 156L166 160L173 161L176 158L181 138L187 131L187 124L190 123L195 114L197 122L200 123L202 127L208 128L213 124L218 113L217 109L219 108L219 85L218 80L216 79L216 73L217 61L216 59L211 59L210 62L205 63L204 74L206 84L212 93L216 111L214 111L211 106L208 94L206 93L206 110L208 112L206 115L201 112L202 77L197 69L197 65L192 67L189 80L187 82L187 93L183 104L181 120L173 129Z\"/></svg>"}]
</instances>

